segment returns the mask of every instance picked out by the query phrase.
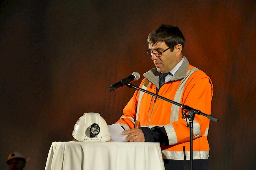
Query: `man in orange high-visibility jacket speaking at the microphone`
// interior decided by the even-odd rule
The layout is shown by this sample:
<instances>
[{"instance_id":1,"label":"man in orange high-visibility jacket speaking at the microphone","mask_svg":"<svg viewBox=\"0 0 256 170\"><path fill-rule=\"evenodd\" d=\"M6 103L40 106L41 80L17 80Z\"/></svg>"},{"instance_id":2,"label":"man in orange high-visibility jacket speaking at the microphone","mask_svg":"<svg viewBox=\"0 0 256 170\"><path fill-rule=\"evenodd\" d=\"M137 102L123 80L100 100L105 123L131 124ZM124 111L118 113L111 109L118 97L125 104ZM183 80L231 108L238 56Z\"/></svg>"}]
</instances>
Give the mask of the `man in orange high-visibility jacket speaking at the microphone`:
<instances>
[{"instance_id":1,"label":"man in orange high-visibility jacket speaking at the microphone","mask_svg":"<svg viewBox=\"0 0 256 170\"><path fill-rule=\"evenodd\" d=\"M161 25L148 35L147 54L156 68L144 73L140 86L210 115L213 85L201 70L182 55L185 38L176 26ZM189 165L188 120L180 107L136 90L117 121L129 142L160 142L165 170L183 170ZM195 115L193 126L193 169L208 170L209 119Z\"/></svg>"}]
</instances>

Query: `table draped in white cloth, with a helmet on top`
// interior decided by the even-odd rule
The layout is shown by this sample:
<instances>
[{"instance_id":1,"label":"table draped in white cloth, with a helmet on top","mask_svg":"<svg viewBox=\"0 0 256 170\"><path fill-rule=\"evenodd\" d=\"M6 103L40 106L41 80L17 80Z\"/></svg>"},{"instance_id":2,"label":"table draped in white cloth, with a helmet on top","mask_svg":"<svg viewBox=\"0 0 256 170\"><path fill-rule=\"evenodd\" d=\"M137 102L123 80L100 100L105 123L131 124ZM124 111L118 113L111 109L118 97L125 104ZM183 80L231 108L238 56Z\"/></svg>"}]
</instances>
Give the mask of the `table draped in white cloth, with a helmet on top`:
<instances>
[{"instance_id":1,"label":"table draped in white cloth, with a helmet on top","mask_svg":"<svg viewBox=\"0 0 256 170\"><path fill-rule=\"evenodd\" d=\"M159 143L52 142L45 170L164 170Z\"/></svg>"}]
</instances>

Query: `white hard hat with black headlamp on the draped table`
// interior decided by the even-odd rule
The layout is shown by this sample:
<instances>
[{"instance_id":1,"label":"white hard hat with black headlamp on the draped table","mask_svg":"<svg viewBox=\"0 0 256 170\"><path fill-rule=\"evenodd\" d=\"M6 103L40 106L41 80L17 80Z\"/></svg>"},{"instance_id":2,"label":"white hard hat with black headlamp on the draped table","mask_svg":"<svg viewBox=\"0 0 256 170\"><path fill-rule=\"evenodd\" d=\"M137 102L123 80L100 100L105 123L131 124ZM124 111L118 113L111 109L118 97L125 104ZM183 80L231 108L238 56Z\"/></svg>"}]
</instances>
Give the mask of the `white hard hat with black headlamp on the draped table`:
<instances>
[{"instance_id":1,"label":"white hard hat with black headlamp on the draped table","mask_svg":"<svg viewBox=\"0 0 256 170\"><path fill-rule=\"evenodd\" d=\"M84 113L74 126L72 136L78 141L101 141L110 140L108 124L98 113Z\"/></svg>"}]
</instances>

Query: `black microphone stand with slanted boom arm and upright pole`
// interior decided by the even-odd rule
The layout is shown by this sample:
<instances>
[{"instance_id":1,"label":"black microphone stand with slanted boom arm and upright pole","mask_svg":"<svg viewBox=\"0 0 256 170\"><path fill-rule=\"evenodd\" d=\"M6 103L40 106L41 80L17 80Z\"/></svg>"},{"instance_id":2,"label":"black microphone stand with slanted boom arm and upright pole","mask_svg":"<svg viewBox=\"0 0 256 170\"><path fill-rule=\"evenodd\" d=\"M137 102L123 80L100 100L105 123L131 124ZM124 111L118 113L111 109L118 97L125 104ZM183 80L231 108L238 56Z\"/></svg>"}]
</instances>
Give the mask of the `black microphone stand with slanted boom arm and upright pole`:
<instances>
[{"instance_id":1,"label":"black microphone stand with slanted boom arm and upright pole","mask_svg":"<svg viewBox=\"0 0 256 170\"><path fill-rule=\"evenodd\" d=\"M182 115L185 118L188 118L188 120L189 120L189 144L190 144L190 151L189 151L189 153L190 153L190 160L189 160L190 168L189 169L193 170L193 120L195 118L195 114L205 116L208 119L213 120L214 122L219 122L219 118L211 116L211 115L207 115L205 113L202 113L200 110L193 109L192 107L189 107L188 105L183 105L183 104L180 104L178 102L174 102L173 100L169 100L167 98L159 96L158 94L154 94L152 92L146 91L145 89L141 89L139 87L136 87L136 86L132 85L132 83L126 83L126 86L128 86L130 88L132 87L134 89L137 89L139 91L143 91L143 92L148 93L148 94L151 94L152 96L158 97L158 98L160 98L162 100L165 100L167 102L170 102L170 103L173 103L175 105L178 105L178 106L181 107L181 109L188 111L188 114L182 113Z\"/></svg>"}]
</instances>

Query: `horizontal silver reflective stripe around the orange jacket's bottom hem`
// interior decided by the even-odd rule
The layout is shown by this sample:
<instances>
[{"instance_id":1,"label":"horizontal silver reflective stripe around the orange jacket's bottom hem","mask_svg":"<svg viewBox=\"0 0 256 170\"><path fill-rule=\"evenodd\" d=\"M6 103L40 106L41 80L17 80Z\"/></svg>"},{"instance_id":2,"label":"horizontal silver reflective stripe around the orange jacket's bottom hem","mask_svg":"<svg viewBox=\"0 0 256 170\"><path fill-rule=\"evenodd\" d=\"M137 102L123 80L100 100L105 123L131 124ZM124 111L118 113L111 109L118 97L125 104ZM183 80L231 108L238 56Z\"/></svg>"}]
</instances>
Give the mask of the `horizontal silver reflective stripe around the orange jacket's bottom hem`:
<instances>
[{"instance_id":1,"label":"horizontal silver reflective stripe around the orange jacket's bottom hem","mask_svg":"<svg viewBox=\"0 0 256 170\"><path fill-rule=\"evenodd\" d=\"M190 159L190 152L185 151L186 159ZM165 151L162 150L163 159L184 160L183 151ZM209 151L193 151L193 159L208 159Z\"/></svg>"}]
</instances>

